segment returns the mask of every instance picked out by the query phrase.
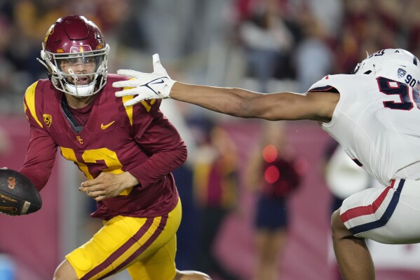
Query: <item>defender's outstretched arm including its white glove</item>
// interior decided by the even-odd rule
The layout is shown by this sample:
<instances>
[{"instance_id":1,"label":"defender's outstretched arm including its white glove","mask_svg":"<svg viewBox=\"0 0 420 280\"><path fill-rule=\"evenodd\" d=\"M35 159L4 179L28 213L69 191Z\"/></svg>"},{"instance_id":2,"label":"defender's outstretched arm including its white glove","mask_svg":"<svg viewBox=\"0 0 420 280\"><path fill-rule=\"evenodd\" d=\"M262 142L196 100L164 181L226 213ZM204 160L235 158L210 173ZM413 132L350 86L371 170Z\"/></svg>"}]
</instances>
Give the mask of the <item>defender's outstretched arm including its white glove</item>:
<instances>
[{"instance_id":1,"label":"defender's outstretched arm including its white glove","mask_svg":"<svg viewBox=\"0 0 420 280\"><path fill-rule=\"evenodd\" d=\"M241 88L183 84L170 79L158 55L153 58L153 73L118 70L118 74L134 79L115 82L114 87L124 88L123 91L117 91L116 96L137 95L124 105L134 105L147 99L172 98L243 118L330 121L339 100L336 93L262 94Z\"/></svg>"}]
</instances>

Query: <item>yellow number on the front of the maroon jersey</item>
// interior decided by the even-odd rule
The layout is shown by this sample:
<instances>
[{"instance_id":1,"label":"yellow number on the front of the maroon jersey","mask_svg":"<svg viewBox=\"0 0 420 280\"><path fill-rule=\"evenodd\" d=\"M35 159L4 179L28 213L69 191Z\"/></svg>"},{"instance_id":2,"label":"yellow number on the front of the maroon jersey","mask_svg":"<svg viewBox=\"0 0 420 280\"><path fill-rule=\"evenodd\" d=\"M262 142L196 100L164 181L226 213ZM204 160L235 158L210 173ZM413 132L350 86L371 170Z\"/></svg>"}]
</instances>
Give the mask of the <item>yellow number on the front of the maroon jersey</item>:
<instances>
[{"instance_id":1,"label":"yellow number on the front of the maroon jersey","mask_svg":"<svg viewBox=\"0 0 420 280\"><path fill-rule=\"evenodd\" d=\"M69 161L74 161L77 166L79 166L80 170L85 173L86 177L89 180L93 179L93 175L90 174L89 168L87 163L95 163L97 161L104 161L105 165L108 168L102 169L103 172L107 173L113 173L113 174L121 174L124 171L121 169L123 165L118 160L118 157L116 156L116 153L114 151L111 151L107 148L101 148L101 149L87 149L82 154L82 159L84 162L80 162L76 158L76 154L74 153L73 149L60 147L62 156L65 157L65 159ZM119 195L128 195L131 192L131 189L128 188L125 189L121 194Z\"/></svg>"}]
</instances>

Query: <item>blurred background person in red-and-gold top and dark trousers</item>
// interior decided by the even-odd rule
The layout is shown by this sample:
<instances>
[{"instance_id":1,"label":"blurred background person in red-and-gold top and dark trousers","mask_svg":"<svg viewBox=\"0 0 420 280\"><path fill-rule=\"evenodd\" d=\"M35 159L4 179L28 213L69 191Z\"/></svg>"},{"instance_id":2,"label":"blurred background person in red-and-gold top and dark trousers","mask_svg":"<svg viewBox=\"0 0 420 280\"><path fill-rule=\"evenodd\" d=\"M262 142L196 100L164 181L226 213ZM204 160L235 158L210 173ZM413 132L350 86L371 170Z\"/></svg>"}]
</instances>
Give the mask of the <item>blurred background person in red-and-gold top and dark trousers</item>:
<instances>
[{"instance_id":1,"label":"blurred background person in red-and-gold top and dark trousers","mask_svg":"<svg viewBox=\"0 0 420 280\"><path fill-rule=\"evenodd\" d=\"M208 121L194 159L194 196L198 207L196 265L202 272L222 280L235 280L215 254L223 222L238 204L238 155L227 131Z\"/></svg>"}]
</instances>

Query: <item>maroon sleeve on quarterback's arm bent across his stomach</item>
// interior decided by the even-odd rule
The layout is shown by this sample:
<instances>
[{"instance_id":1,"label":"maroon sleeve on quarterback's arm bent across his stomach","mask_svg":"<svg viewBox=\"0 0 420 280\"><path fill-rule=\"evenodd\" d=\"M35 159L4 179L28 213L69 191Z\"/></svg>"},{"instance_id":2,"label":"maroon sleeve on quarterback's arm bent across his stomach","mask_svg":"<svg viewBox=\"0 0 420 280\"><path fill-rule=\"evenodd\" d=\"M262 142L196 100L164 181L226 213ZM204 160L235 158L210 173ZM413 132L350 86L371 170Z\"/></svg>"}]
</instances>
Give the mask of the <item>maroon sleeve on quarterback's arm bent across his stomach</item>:
<instances>
[{"instance_id":1,"label":"maroon sleeve on quarterback's arm bent across his stomach","mask_svg":"<svg viewBox=\"0 0 420 280\"><path fill-rule=\"evenodd\" d=\"M187 160L187 146L160 111L154 113L146 130L139 127L135 131L135 141L149 155L149 159L128 171L139 180L141 187L161 180Z\"/></svg>"}]
</instances>

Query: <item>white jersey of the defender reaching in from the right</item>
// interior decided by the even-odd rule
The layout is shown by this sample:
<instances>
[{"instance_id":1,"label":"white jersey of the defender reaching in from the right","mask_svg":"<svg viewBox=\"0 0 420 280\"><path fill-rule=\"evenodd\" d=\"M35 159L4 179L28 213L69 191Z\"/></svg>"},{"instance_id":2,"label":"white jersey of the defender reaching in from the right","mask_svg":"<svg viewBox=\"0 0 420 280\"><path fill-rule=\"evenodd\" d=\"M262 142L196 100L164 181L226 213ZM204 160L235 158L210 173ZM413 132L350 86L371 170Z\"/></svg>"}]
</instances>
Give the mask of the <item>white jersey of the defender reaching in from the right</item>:
<instances>
[{"instance_id":1,"label":"white jersey of the defender reaching in from the right","mask_svg":"<svg viewBox=\"0 0 420 280\"><path fill-rule=\"evenodd\" d=\"M330 75L309 91L339 91L332 120L322 128L357 164L389 185L420 179L420 97L406 84L367 74Z\"/></svg>"}]
</instances>

